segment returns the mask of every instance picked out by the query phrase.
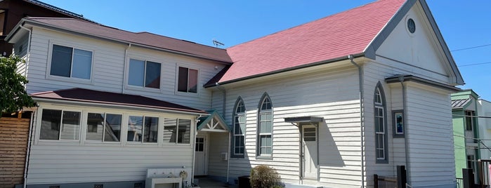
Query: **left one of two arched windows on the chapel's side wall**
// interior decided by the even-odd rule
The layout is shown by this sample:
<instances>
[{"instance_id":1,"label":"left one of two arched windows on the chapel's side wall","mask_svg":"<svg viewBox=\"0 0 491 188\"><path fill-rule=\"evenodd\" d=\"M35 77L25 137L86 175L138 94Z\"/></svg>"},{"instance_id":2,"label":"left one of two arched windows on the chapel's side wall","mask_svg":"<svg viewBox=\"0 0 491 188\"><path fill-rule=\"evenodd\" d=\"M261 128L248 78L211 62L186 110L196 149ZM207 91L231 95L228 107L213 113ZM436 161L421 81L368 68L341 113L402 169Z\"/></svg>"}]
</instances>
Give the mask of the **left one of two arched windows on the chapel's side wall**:
<instances>
[{"instance_id":1,"label":"left one of two arched windows on the chapel's side wall","mask_svg":"<svg viewBox=\"0 0 491 188\"><path fill-rule=\"evenodd\" d=\"M244 157L244 137L245 137L245 105L242 98L237 98L233 112L233 151L231 157Z\"/></svg>"}]
</instances>

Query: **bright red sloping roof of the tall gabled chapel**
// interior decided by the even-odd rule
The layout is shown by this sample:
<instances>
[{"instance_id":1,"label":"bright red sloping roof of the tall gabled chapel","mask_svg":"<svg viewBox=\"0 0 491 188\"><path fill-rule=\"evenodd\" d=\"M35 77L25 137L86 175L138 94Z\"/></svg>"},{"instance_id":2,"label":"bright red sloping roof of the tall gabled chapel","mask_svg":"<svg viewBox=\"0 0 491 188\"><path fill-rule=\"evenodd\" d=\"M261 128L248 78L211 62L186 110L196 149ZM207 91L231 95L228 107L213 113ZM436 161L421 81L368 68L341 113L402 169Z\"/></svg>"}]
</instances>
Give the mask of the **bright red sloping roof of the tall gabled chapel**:
<instances>
[{"instance_id":1,"label":"bright red sloping roof of the tall gabled chapel","mask_svg":"<svg viewBox=\"0 0 491 188\"><path fill-rule=\"evenodd\" d=\"M405 0L380 0L227 48L233 65L218 82L363 53Z\"/></svg>"}]
</instances>

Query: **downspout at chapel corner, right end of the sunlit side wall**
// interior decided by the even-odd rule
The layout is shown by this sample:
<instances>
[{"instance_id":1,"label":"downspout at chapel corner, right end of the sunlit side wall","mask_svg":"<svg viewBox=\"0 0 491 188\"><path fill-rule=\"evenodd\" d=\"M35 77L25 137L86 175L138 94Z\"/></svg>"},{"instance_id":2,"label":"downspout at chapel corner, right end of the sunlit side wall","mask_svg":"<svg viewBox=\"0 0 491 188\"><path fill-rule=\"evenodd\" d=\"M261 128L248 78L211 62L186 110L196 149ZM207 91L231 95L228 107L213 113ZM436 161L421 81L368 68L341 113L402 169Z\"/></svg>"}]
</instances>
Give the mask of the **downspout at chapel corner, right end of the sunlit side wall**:
<instances>
[{"instance_id":1,"label":"downspout at chapel corner, right end of the sunlit side wall","mask_svg":"<svg viewBox=\"0 0 491 188\"><path fill-rule=\"evenodd\" d=\"M364 123L363 123L363 77L362 67L353 61L354 56L348 55L350 62L358 68L358 86L360 90L360 151L361 151L361 179L362 188L365 187L365 144L364 144Z\"/></svg>"}]
</instances>

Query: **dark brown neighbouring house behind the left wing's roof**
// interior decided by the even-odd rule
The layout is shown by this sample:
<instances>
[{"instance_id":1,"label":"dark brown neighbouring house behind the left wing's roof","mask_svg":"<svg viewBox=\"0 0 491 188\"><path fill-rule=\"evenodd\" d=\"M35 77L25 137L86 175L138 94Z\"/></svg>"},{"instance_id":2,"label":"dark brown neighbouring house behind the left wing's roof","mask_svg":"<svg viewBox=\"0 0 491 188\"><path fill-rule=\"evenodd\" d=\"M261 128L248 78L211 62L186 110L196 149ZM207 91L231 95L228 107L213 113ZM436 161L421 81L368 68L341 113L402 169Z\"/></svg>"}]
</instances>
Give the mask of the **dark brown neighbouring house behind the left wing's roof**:
<instances>
[{"instance_id":1,"label":"dark brown neighbouring house behind the left wing's roof","mask_svg":"<svg viewBox=\"0 0 491 188\"><path fill-rule=\"evenodd\" d=\"M83 15L72 13L37 0L0 1L0 55L12 53L12 44L4 41L15 25L26 17L60 17L86 20Z\"/></svg>"}]
</instances>

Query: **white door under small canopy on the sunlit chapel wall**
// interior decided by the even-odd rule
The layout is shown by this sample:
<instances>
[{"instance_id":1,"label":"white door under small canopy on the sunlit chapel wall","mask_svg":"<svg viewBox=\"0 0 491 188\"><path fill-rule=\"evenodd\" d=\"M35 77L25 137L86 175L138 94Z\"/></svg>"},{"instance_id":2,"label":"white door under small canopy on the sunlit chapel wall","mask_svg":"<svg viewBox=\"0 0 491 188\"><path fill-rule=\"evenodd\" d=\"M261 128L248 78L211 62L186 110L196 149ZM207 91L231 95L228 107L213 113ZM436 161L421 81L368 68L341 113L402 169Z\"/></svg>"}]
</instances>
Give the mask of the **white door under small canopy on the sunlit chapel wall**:
<instances>
[{"instance_id":1,"label":"white door under small canopy on the sunlit chapel wall","mask_svg":"<svg viewBox=\"0 0 491 188\"><path fill-rule=\"evenodd\" d=\"M317 128L303 126L303 177L317 180Z\"/></svg>"}]
</instances>

